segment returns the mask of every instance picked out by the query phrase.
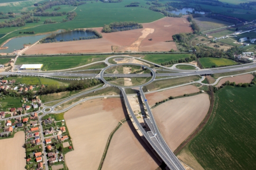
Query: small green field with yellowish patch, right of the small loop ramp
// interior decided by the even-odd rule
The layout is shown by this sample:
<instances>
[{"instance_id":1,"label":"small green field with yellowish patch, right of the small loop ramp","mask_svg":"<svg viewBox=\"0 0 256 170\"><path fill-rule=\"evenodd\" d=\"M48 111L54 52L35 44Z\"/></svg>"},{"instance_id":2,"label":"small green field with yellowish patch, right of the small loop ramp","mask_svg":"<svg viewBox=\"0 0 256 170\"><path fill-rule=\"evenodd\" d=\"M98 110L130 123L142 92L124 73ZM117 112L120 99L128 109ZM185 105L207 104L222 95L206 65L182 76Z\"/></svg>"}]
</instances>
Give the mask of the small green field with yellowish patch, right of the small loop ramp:
<instances>
[{"instance_id":1,"label":"small green field with yellowish patch, right of the small loop ramp","mask_svg":"<svg viewBox=\"0 0 256 170\"><path fill-rule=\"evenodd\" d=\"M200 58L199 61L201 62L201 65L203 68L212 68L212 66L215 66L215 67L232 66L232 65L238 64L237 62L231 59L213 58L213 57Z\"/></svg>"}]
</instances>

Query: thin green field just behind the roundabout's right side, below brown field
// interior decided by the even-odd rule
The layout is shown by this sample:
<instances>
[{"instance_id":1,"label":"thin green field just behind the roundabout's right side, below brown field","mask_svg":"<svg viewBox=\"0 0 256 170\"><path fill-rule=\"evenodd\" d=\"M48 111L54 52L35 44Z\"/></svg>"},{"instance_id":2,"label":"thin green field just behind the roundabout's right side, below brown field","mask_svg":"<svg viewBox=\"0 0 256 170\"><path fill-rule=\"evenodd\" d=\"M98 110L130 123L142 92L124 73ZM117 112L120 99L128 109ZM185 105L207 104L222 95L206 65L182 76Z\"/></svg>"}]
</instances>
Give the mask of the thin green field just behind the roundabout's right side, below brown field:
<instances>
[{"instance_id":1,"label":"thin green field just behind the roundabout's right side, below brown field","mask_svg":"<svg viewBox=\"0 0 256 170\"><path fill-rule=\"evenodd\" d=\"M147 54L143 59L151 61L156 64L161 64L165 61L170 61L172 59L183 59L190 57L191 54Z\"/></svg>"}]
</instances>

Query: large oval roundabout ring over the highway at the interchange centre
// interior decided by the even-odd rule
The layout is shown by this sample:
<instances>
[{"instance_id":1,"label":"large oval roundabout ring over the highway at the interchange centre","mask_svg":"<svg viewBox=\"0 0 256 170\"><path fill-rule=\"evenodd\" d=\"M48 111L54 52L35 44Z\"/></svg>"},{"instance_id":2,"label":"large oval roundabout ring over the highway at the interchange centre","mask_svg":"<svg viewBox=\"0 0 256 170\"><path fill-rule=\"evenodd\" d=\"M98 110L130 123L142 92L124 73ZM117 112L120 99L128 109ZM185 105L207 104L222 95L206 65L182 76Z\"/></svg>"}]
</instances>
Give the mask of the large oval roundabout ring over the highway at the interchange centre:
<instances>
[{"instance_id":1,"label":"large oval roundabout ring over the highway at the interchange centre","mask_svg":"<svg viewBox=\"0 0 256 170\"><path fill-rule=\"evenodd\" d=\"M141 85L131 85L131 86L125 86L125 85L115 85L115 84L112 84L112 83L110 83L109 81L107 81L105 78L104 78L104 72L107 70L107 69L109 69L109 68L112 68L112 67L116 67L116 66L124 66L124 65L132 65L132 66L140 66L141 68L143 68L143 69L149 69L150 71L151 71L151 76L152 76L152 78L148 81L148 82L146 82L146 83L144 83L144 84L141 84ZM128 73L128 74L126 74L125 76L126 77L129 77L128 75L129 75L130 73ZM119 74L114 74L113 73L113 75L115 75L116 77L119 77L118 75ZM132 75L132 74L131 74ZM142 76L143 76L143 74L142 74ZM104 69L102 69L101 70L101 73L100 73L100 78L101 78L101 80L105 83L105 84L108 84L108 85L111 85L111 86L115 86L115 87L121 87L121 88L135 88L135 87L142 87L142 86L144 86L144 85L148 85L148 84L150 84L150 83L152 83L154 80L155 80L155 76L156 76L156 74L155 74L155 71L152 69L152 68L150 68L150 67L147 67L147 66L144 66L144 65L141 65L141 64L134 64L134 63L122 63L122 64L113 64L113 65L111 65L111 66L108 66L108 67L106 67L106 68L104 68ZM147 75L145 74L145 76L144 77L147 77Z\"/></svg>"}]
</instances>

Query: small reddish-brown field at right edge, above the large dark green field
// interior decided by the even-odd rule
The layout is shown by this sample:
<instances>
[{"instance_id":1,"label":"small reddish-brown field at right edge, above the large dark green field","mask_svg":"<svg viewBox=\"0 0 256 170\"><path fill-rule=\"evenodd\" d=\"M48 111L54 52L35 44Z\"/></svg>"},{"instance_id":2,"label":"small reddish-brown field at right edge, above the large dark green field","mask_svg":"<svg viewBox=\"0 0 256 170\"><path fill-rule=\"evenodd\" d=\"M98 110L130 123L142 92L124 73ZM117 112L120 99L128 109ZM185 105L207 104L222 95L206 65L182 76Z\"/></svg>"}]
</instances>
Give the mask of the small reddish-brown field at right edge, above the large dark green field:
<instances>
[{"instance_id":1,"label":"small reddish-brown field at right edge, above the large dark green field","mask_svg":"<svg viewBox=\"0 0 256 170\"><path fill-rule=\"evenodd\" d=\"M236 82L236 84L238 84L238 83L250 83L252 81L252 79L253 79L252 74L246 74L246 75L240 75L240 76L234 76L234 77L226 77L226 78L220 79L219 83L216 85L216 87L219 87L226 81Z\"/></svg>"}]
</instances>

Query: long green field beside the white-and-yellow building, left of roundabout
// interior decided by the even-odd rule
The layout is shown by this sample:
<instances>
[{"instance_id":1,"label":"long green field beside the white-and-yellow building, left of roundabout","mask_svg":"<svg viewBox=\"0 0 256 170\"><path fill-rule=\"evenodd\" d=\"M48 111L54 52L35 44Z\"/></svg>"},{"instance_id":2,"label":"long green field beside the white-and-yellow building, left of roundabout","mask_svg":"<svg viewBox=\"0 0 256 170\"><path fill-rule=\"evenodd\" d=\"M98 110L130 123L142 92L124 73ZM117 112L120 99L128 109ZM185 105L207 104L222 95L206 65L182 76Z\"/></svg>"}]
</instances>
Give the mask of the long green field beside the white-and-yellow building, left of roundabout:
<instances>
[{"instance_id":1,"label":"long green field beside the white-and-yellow building, left of roundabout","mask_svg":"<svg viewBox=\"0 0 256 170\"><path fill-rule=\"evenodd\" d=\"M58 56L58 57L18 57L16 64L43 64L42 70L58 70L79 67L106 59L107 55ZM65 58L65 59L64 59Z\"/></svg>"}]
</instances>

